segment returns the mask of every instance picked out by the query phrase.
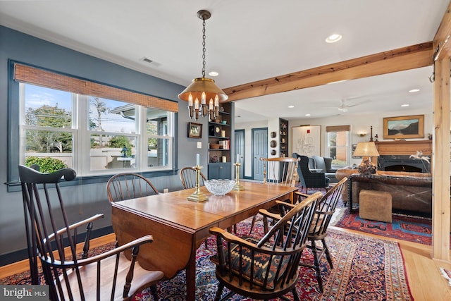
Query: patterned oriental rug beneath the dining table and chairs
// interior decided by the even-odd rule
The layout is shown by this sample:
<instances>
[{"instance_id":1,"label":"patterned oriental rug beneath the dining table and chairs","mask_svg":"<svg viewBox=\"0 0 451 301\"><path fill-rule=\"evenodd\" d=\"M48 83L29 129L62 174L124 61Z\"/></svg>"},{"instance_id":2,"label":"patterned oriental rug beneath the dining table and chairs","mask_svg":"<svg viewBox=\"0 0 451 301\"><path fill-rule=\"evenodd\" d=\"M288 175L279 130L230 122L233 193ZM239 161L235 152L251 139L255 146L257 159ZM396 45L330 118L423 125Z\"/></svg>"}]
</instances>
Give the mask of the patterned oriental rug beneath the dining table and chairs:
<instances>
[{"instance_id":1,"label":"patterned oriental rug beneath the dining table and chairs","mask_svg":"<svg viewBox=\"0 0 451 301\"><path fill-rule=\"evenodd\" d=\"M237 224L237 235L249 233L250 221ZM254 235L261 235L261 223L254 228ZM410 292L402 252L397 242L367 238L359 234L342 233L330 229L326 238L333 256L334 268L330 269L326 259L321 262L321 277L324 292L319 292L313 269L299 268L297 292L301 300L413 300ZM208 239L208 250L204 244L197 250L196 300L214 300L217 284L215 266L210 257L215 254L216 240ZM94 250L95 252L95 250ZM303 260L313 262L311 252L304 250ZM27 273L0 280L0 284L29 283ZM185 300L185 271L158 285L159 300ZM227 293L227 289L225 292ZM292 295L287 295L292 300ZM143 290L136 300L152 300L149 290ZM252 299L234 295L232 301Z\"/></svg>"}]
</instances>

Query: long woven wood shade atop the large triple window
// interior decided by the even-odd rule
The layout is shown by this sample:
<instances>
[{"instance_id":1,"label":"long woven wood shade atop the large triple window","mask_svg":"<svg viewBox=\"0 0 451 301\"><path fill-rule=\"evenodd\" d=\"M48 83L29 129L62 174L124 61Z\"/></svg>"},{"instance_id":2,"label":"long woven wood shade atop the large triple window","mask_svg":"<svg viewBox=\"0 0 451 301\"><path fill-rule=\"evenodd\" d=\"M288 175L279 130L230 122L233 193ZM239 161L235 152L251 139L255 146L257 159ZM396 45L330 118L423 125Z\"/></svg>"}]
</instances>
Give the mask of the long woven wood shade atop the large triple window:
<instances>
[{"instance_id":1,"label":"long woven wood shade atop the large triple window","mask_svg":"<svg viewBox=\"0 0 451 301\"><path fill-rule=\"evenodd\" d=\"M139 104L153 109L178 112L178 103L153 97L146 94L102 85L97 82L73 78L68 75L54 73L48 70L26 66L20 63L14 65L14 80L32 85L49 87L78 94L90 95L106 99L115 99L131 104Z\"/></svg>"}]
</instances>

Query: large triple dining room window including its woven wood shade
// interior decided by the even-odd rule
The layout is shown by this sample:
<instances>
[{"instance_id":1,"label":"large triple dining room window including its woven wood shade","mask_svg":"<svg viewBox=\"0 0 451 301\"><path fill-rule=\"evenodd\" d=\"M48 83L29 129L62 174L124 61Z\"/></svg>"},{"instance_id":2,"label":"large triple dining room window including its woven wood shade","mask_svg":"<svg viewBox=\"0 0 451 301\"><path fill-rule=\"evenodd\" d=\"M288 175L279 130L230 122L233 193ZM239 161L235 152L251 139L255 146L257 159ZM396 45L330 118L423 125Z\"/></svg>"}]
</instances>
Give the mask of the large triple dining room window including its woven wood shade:
<instances>
[{"instance_id":1,"label":"large triple dining room window including its woven wood shade","mask_svg":"<svg viewBox=\"0 0 451 301\"><path fill-rule=\"evenodd\" d=\"M50 157L74 168L78 176L172 170L177 103L25 65L14 67L20 152L10 148L11 166L30 157ZM49 75L51 82L42 83ZM61 78L66 80L63 90ZM68 89L68 79L82 85ZM80 93L89 84L95 89ZM10 180L18 177L10 173Z\"/></svg>"}]
</instances>

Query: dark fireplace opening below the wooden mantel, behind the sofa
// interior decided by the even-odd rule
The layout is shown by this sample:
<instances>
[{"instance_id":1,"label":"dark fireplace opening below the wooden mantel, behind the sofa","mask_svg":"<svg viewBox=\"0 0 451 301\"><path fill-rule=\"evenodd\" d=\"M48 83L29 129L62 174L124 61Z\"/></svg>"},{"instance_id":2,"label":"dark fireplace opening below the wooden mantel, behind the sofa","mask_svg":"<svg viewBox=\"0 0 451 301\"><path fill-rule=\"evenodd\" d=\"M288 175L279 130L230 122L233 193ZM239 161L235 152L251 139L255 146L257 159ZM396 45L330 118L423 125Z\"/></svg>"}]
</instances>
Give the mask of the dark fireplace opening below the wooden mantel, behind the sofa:
<instances>
[{"instance_id":1,"label":"dark fireplace opening below the wooden mantel, behind the sofa","mask_svg":"<svg viewBox=\"0 0 451 301\"><path fill-rule=\"evenodd\" d=\"M378 170L428 173L431 171L431 164L426 160L414 159L407 155L387 155L378 158Z\"/></svg>"}]
</instances>

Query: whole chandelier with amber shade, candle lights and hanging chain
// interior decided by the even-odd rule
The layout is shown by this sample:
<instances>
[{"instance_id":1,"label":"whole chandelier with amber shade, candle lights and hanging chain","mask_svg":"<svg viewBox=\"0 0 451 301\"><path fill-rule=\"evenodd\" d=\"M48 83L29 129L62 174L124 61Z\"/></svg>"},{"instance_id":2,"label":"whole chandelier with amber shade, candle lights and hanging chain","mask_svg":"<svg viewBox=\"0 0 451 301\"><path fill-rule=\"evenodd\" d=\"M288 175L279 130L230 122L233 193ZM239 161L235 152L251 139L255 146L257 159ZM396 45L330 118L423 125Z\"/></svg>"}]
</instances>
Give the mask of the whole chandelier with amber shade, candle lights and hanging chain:
<instances>
[{"instance_id":1,"label":"whole chandelier with amber shade, candle lights and hanging chain","mask_svg":"<svg viewBox=\"0 0 451 301\"><path fill-rule=\"evenodd\" d=\"M199 119L209 116L214 120L219 116L219 102L226 101L228 96L223 92L211 78L205 77L205 20L211 17L211 13L206 10L197 12L197 17L202 20L202 78L194 78L192 83L183 92L178 94L178 98L188 102L188 114L190 118ZM208 104L206 103L208 100Z\"/></svg>"}]
</instances>

